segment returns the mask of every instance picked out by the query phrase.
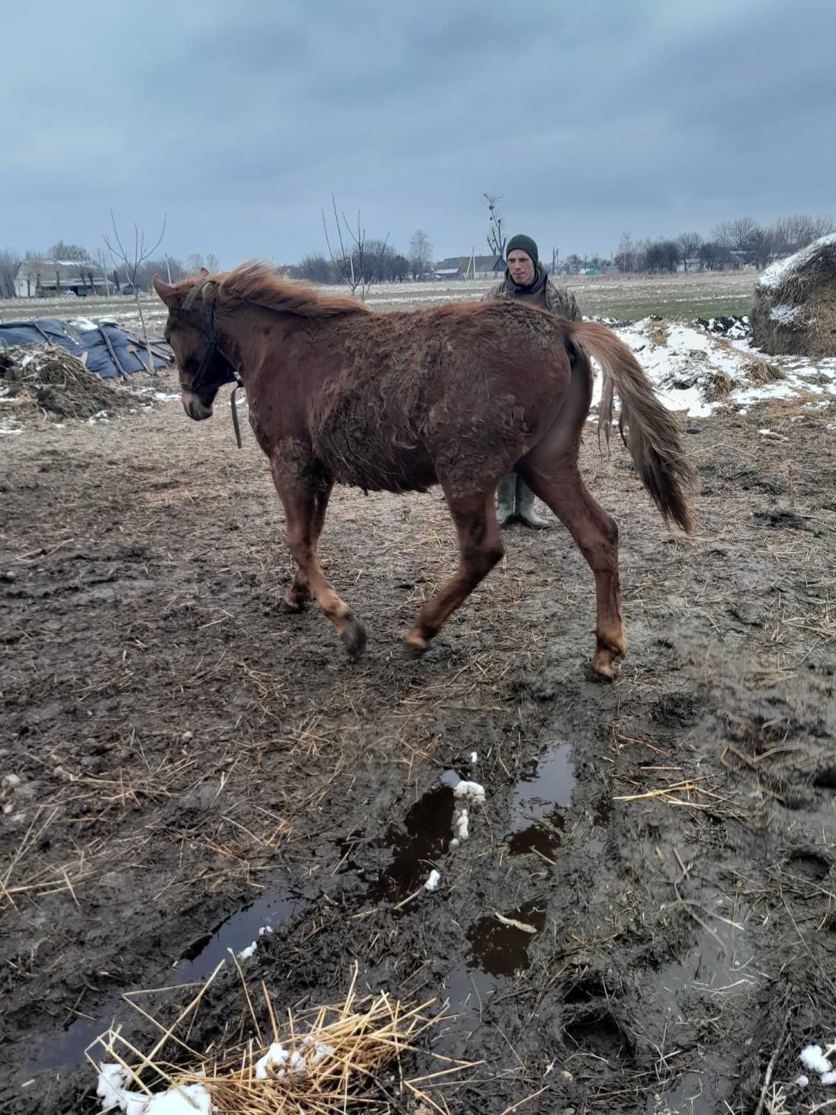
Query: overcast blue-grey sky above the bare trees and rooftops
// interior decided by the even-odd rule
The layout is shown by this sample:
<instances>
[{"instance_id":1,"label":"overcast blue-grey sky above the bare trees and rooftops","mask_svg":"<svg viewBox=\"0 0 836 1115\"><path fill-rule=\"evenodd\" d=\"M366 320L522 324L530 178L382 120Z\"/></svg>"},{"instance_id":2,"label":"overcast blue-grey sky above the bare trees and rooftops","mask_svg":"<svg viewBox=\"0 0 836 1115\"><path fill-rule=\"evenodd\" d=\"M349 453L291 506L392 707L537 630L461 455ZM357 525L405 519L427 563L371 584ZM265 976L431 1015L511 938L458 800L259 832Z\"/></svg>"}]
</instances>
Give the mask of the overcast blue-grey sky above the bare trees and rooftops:
<instances>
[{"instance_id":1,"label":"overcast blue-grey sky above the bare trees and rooftops","mask_svg":"<svg viewBox=\"0 0 836 1115\"><path fill-rule=\"evenodd\" d=\"M401 251L836 210L834 0L41 0L2 17L0 248L295 262L333 191ZM25 7L28 8L26 13Z\"/></svg>"}]
</instances>

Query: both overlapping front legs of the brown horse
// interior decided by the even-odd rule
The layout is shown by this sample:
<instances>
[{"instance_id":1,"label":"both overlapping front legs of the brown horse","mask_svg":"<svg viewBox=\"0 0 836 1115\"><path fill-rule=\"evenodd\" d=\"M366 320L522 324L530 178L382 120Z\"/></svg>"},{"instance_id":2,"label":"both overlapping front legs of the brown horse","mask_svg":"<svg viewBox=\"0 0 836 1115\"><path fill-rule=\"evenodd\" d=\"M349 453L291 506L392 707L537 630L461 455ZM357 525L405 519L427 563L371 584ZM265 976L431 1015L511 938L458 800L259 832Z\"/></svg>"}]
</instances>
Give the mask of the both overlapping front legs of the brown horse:
<instances>
[{"instance_id":1,"label":"both overlapping front legs of the brown horse","mask_svg":"<svg viewBox=\"0 0 836 1115\"><path fill-rule=\"evenodd\" d=\"M300 475L285 471L276 462L271 463L271 471L284 507L288 549L299 566L288 598L299 600L303 591L312 595L339 631L349 656L359 658L366 648L366 631L329 584L317 556L331 484L311 475L309 469Z\"/></svg>"}]
</instances>

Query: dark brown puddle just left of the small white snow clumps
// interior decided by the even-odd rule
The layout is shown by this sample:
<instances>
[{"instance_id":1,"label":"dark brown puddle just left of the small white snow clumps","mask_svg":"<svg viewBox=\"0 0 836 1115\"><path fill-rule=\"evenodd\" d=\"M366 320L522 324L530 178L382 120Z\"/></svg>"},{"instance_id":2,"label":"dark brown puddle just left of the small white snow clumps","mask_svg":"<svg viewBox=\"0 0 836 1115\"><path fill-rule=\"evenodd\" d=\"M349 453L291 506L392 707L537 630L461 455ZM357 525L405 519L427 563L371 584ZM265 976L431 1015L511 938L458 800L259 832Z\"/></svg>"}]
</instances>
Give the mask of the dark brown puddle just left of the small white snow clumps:
<instances>
[{"instance_id":1,"label":"dark brown puddle just left of the small white snow clumps","mask_svg":"<svg viewBox=\"0 0 836 1115\"><path fill-rule=\"evenodd\" d=\"M367 891L371 902L398 902L418 890L432 862L447 851L453 825L453 794L447 786L427 791L380 843L392 850L392 861ZM404 831L406 830L406 831Z\"/></svg>"}]
</instances>

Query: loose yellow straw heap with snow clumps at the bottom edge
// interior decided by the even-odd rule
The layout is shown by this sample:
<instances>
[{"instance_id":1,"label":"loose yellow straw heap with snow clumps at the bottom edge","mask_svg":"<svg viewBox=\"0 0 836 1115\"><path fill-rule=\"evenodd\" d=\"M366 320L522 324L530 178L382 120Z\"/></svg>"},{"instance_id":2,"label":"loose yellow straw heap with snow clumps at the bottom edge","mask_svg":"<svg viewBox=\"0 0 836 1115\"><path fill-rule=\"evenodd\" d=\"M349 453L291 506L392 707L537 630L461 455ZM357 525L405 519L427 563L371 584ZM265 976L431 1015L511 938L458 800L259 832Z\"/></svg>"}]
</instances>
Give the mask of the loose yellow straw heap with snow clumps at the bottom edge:
<instances>
[{"instance_id":1,"label":"loose yellow straw heap with snow clumps at the bottom edge","mask_svg":"<svg viewBox=\"0 0 836 1115\"><path fill-rule=\"evenodd\" d=\"M256 1037L226 1049L217 1057L198 1055L177 1036L223 966L218 964L193 1001L165 1028L140 1010L146 1020L163 1031L154 1048L143 1054L117 1029L108 1030L87 1049L87 1058L105 1076L120 1078L121 1096L103 1096L105 1111L132 1111L142 1115L157 1109L165 1098L173 1109L195 1115L204 1109L235 1115L336 1115L354 1111L410 1112L424 1105L428 1113L447 1115L449 1108L440 1095L434 1097L436 1082L450 1082L453 1074L476 1064L451 1060L437 1072L407 1077L404 1057L418 1050L418 1040L439 1021L425 1014L435 1000L406 1006L385 991L358 996L357 968L346 999L334 1006L318 1007L276 1017L264 983L270 1031L263 1032L246 985L244 996ZM239 969L240 971L240 969ZM130 1001L130 1000L128 1000ZM186 1024L187 1025L187 1024ZM187 1032L187 1031L186 1031ZM166 1046L174 1045L187 1068L163 1058ZM117 1068L118 1066L118 1068ZM99 1077L100 1088L101 1076ZM129 1090L127 1090L129 1089ZM204 1095L207 1094L206 1095ZM108 1104L108 1099L110 1103ZM176 1103L185 1106L175 1106ZM161 1109L166 1109L161 1107Z\"/></svg>"}]
</instances>

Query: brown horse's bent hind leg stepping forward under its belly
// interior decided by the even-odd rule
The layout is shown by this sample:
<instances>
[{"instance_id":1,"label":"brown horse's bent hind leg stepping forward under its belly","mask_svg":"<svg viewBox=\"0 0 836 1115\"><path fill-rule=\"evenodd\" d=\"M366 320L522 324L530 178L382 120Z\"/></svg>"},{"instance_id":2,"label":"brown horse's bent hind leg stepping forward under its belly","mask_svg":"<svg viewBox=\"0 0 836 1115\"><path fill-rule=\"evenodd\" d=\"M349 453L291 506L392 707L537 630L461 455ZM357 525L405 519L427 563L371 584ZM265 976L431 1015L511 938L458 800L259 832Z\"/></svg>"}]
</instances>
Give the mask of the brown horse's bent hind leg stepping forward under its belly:
<instances>
[{"instance_id":1,"label":"brown horse's bent hind leg stepping forward under its belly","mask_svg":"<svg viewBox=\"0 0 836 1115\"><path fill-rule=\"evenodd\" d=\"M458 569L418 612L418 620L406 637L410 658L419 658L428 650L430 639L438 634L447 617L505 553L494 510L494 486L467 500L454 496L445 486L445 498L458 534Z\"/></svg>"}]
</instances>

